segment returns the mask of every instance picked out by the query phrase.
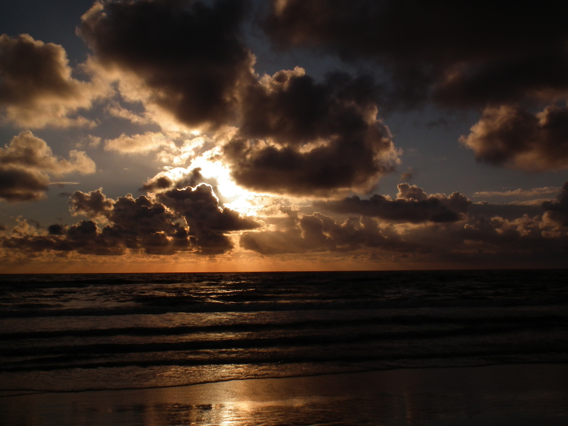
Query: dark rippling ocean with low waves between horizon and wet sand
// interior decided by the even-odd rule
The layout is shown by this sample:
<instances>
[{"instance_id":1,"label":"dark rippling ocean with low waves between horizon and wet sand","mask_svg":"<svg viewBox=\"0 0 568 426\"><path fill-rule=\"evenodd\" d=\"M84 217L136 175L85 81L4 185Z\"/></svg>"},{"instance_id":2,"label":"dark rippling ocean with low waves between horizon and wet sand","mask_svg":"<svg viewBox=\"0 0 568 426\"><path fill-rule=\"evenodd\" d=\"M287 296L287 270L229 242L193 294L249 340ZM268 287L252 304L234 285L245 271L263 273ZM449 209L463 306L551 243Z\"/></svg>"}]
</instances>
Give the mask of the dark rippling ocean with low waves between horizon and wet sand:
<instances>
[{"instance_id":1,"label":"dark rippling ocean with low waves between horizon and wet sand","mask_svg":"<svg viewBox=\"0 0 568 426\"><path fill-rule=\"evenodd\" d=\"M566 272L2 275L0 396L567 364Z\"/></svg>"}]
</instances>

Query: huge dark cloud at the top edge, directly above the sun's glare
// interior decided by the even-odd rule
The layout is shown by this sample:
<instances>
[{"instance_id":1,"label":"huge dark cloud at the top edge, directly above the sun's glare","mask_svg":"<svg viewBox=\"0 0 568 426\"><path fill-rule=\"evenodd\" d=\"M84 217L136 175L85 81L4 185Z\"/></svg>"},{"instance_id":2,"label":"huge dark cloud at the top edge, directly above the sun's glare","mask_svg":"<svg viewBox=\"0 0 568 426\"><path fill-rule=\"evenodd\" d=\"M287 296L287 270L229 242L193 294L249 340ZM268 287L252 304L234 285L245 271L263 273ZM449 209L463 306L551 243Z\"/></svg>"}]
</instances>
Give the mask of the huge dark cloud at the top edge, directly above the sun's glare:
<instances>
[{"instance_id":1,"label":"huge dark cloud at the top edge, directly above the sun's glare","mask_svg":"<svg viewBox=\"0 0 568 426\"><path fill-rule=\"evenodd\" d=\"M148 103L216 128L235 118L239 86L253 80L245 12L241 0L108 0L83 15L78 31L103 66L143 81Z\"/></svg>"}]
</instances>

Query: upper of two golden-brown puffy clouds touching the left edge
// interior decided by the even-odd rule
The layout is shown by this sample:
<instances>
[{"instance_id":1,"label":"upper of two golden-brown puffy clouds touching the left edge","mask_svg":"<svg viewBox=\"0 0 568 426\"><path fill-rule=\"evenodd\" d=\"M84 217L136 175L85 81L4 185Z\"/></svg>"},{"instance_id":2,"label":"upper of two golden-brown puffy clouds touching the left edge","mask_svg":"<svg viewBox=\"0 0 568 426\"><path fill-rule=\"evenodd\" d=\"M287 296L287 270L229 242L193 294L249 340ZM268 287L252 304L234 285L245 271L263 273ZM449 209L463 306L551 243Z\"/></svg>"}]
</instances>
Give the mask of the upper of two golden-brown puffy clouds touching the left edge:
<instances>
[{"instance_id":1,"label":"upper of two golden-brown puffy clouds touching the left edge","mask_svg":"<svg viewBox=\"0 0 568 426\"><path fill-rule=\"evenodd\" d=\"M0 35L0 112L20 127L94 126L76 115L106 87L71 76L64 48L27 34Z\"/></svg>"}]
</instances>

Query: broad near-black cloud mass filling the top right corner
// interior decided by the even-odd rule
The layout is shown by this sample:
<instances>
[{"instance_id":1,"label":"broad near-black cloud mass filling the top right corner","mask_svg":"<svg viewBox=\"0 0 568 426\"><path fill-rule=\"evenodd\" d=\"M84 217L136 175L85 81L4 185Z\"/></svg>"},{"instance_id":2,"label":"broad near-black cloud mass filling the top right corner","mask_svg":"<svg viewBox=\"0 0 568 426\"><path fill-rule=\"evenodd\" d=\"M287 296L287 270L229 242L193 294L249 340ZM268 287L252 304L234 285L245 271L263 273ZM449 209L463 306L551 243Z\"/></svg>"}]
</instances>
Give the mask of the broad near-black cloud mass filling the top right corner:
<instances>
[{"instance_id":1,"label":"broad near-black cloud mass filling the top right corner","mask_svg":"<svg viewBox=\"0 0 568 426\"><path fill-rule=\"evenodd\" d=\"M273 0L275 46L382 65L394 98L468 106L568 92L565 3Z\"/></svg>"}]
</instances>

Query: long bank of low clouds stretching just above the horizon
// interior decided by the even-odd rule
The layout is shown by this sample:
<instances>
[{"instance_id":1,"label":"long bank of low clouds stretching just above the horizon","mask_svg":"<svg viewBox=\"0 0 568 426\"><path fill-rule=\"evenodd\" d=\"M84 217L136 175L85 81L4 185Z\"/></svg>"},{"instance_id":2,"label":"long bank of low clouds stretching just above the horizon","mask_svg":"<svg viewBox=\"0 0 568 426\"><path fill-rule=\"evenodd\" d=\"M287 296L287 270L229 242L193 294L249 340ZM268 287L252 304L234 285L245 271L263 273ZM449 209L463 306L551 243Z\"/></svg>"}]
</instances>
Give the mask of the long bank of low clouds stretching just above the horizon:
<instances>
[{"instance_id":1,"label":"long bank of low clouds stretching just above the horizon","mask_svg":"<svg viewBox=\"0 0 568 426\"><path fill-rule=\"evenodd\" d=\"M297 207L281 207L280 215L254 220L227 208L220 209L208 185L168 190L156 194L156 199L133 198L128 194L111 200L101 190L87 194L77 191L72 204L81 206L80 213L98 224L82 220L70 227L53 224L41 229L23 220L10 236L0 235L0 245L29 256L41 252L96 256L129 252L160 256L179 252L220 254L234 249L233 233L240 234L241 249L265 256L312 253L317 260L320 256L334 256L333 253L342 253L342 257L351 253L350 256L371 256L393 264L471 265L475 261L494 266L511 262L525 266L542 262L562 265L568 254L566 194L568 183L557 202L543 204L544 215L524 214L515 218L513 210L508 210L509 204L501 210L509 217L490 215L488 210L474 211L478 206L474 204L469 207L473 212L456 222L389 223L369 215L338 222L317 211L300 214ZM428 195L406 184L399 187L399 198L390 202L421 206L433 197L444 200L441 194ZM462 197L454 196L454 204L461 205L458 208L464 207ZM448 205L452 204L450 198L445 197ZM498 204L489 208L499 213ZM79 213L77 208L74 211Z\"/></svg>"}]
</instances>

